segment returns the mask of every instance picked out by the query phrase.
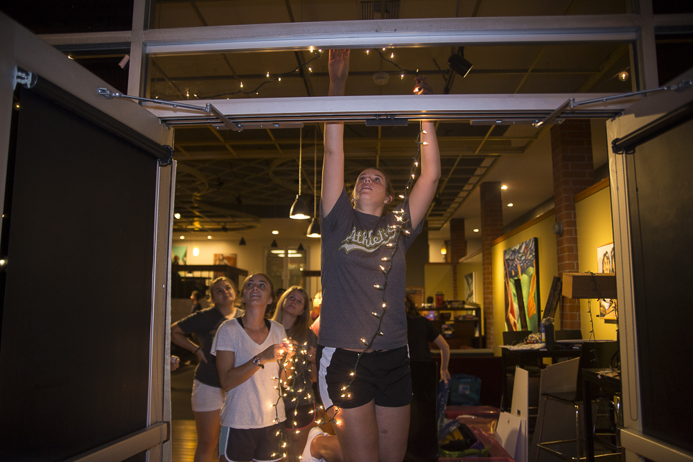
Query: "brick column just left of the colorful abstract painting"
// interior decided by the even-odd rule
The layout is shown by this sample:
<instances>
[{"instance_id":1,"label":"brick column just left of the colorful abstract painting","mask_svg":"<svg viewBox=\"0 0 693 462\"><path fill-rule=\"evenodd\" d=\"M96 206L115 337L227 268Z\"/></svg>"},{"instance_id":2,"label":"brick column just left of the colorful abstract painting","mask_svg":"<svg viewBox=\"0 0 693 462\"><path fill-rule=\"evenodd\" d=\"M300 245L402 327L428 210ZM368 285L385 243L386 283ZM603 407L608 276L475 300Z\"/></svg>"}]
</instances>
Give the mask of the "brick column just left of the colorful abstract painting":
<instances>
[{"instance_id":1,"label":"brick column just left of the colorful abstract painting","mask_svg":"<svg viewBox=\"0 0 693 462\"><path fill-rule=\"evenodd\" d=\"M482 277L484 278L484 329L486 345L493 344L493 269L491 245L503 234L503 202L500 181L481 184ZM499 281L500 283L500 281ZM501 307L502 308L502 307Z\"/></svg>"}]
</instances>

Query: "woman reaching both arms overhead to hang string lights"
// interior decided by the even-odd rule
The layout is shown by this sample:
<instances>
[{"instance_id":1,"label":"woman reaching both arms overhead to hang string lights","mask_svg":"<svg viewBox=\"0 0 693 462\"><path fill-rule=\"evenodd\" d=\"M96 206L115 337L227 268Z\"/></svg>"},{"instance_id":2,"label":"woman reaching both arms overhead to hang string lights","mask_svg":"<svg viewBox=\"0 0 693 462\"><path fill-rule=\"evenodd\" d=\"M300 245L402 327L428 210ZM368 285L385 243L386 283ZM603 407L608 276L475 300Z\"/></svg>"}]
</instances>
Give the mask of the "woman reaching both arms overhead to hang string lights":
<instances>
[{"instance_id":1,"label":"woman reaching both arms overhead to hang string lights","mask_svg":"<svg viewBox=\"0 0 693 462\"><path fill-rule=\"evenodd\" d=\"M331 50L328 70L329 95L343 96L349 50ZM415 94L430 93L426 78L416 77L415 85ZM358 175L349 197L344 186L344 123L325 123L318 382L347 461L401 462L407 450L412 380L405 251L421 232L440 177L435 125L422 125L419 178L405 202L387 213L395 196L387 175L377 168ZM401 233L395 231L398 223ZM380 292L374 285L383 283L384 258L391 269ZM387 312L380 318L383 299Z\"/></svg>"}]
</instances>

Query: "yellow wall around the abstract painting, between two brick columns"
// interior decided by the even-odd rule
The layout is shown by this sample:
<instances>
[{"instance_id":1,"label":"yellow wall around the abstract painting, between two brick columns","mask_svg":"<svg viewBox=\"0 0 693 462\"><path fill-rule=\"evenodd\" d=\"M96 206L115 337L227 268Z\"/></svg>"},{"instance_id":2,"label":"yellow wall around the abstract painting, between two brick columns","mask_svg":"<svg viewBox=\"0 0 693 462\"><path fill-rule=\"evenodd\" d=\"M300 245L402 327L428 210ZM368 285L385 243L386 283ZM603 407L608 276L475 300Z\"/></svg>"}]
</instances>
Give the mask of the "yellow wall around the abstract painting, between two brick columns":
<instances>
[{"instance_id":1,"label":"yellow wall around the abstract painting, between two brick columns","mask_svg":"<svg viewBox=\"0 0 693 462\"><path fill-rule=\"evenodd\" d=\"M488 344L493 348L496 355L500 355L500 345L502 344L505 327L505 285L503 269L503 251L525 242L531 238L538 238L539 253L539 305L543 312L546 299L551 290L551 283L554 276L558 276L558 263L556 262L556 235L553 233L554 213L545 213L538 222L522 229L517 233L505 236L502 242L491 247L491 265L493 268L493 341ZM556 319L559 325L559 319ZM486 332L488 335L488 332ZM489 339L487 337L487 342Z\"/></svg>"}]
</instances>

